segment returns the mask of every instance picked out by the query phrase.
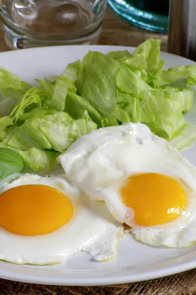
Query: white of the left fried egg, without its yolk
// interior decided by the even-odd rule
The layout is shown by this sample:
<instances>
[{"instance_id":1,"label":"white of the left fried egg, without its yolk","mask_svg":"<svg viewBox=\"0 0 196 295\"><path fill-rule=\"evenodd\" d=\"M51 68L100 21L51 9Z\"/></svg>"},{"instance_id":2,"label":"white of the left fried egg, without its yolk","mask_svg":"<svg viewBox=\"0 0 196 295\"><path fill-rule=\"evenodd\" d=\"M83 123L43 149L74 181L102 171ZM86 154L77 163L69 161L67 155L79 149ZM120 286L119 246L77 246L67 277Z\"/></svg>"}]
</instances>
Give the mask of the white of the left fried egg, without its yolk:
<instances>
[{"instance_id":1,"label":"white of the left fried egg, without its yolk","mask_svg":"<svg viewBox=\"0 0 196 295\"><path fill-rule=\"evenodd\" d=\"M0 227L0 259L15 264L55 264L84 251L95 260L105 261L116 255L123 226L108 211L104 202L91 202L64 175L40 177L25 174L4 183L0 193L16 186L42 184L63 192L73 204L73 218L58 230L37 236L20 236ZM41 197L41 196L40 196Z\"/></svg>"}]
</instances>

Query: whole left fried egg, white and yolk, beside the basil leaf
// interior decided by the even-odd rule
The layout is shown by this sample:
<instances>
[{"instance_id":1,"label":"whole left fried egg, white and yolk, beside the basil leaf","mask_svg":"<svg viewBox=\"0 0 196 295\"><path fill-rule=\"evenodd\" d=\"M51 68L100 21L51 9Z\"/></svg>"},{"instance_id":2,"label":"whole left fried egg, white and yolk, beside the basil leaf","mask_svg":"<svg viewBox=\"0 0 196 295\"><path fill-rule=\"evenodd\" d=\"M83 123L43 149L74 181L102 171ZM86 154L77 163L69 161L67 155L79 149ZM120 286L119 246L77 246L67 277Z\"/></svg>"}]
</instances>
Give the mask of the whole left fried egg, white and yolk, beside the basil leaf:
<instances>
[{"instance_id":1,"label":"whole left fried egg, white and yolk, beside the basil leaf","mask_svg":"<svg viewBox=\"0 0 196 295\"><path fill-rule=\"evenodd\" d=\"M105 261L122 235L104 202L91 202L64 175L26 174L1 187L1 260L55 264L84 251Z\"/></svg>"}]
</instances>

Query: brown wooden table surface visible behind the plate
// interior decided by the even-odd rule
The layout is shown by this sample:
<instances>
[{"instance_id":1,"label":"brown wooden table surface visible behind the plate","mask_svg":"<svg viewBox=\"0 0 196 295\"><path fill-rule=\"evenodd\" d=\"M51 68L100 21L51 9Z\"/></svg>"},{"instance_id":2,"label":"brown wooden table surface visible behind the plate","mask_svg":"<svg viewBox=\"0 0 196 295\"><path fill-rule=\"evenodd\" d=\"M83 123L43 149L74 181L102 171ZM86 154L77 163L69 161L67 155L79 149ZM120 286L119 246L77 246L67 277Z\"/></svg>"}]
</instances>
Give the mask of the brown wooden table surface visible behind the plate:
<instances>
[{"instance_id":1,"label":"brown wooden table surface visible behind the plate","mask_svg":"<svg viewBox=\"0 0 196 295\"><path fill-rule=\"evenodd\" d=\"M0 20L0 52L8 51L10 48L5 43L3 29ZM133 26L130 22L117 15L109 6L106 9L102 24L102 32L98 44L100 45L122 45L138 46L147 38L162 39L161 50L167 51L168 37L165 34L153 33Z\"/></svg>"}]
</instances>

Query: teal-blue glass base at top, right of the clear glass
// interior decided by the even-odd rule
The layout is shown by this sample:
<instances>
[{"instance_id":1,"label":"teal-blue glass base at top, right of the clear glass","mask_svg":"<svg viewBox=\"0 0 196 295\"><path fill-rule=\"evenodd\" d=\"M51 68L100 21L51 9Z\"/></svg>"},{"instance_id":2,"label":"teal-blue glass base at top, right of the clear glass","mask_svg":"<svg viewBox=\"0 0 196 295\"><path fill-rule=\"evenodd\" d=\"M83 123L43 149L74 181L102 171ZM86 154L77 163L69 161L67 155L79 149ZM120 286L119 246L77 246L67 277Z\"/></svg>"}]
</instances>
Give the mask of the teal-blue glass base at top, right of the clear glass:
<instances>
[{"instance_id":1,"label":"teal-blue glass base at top, right of the clear glass","mask_svg":"<svg viewBox=\"0 0 196 295\"><path fill-rule=\"evenodd\" d=\"M135 26L163 33L168 31L170 0L108 0L108 3Z\"/></svg>"}]
</instances>

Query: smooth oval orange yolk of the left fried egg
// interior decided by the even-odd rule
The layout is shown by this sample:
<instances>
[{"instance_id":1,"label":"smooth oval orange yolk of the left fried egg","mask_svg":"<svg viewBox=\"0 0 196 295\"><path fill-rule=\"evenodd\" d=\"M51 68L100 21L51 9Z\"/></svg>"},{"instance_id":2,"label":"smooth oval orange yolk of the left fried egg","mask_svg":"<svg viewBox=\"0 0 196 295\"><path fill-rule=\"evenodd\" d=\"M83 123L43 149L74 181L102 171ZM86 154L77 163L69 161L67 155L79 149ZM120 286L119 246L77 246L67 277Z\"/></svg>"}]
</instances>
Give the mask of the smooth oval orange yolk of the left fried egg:
<instances>
[{"instance_id":1,"label":"smooth oval orange yolk of the left fried egg","mask_svg":"<svg viewBox=\"0 0 196 295\"><path fill-rule=\"evenodd\" d=\"M49 186L22 185L0 195L0 225L13 234L49 234L69 222L72 216L70 199Z\"/></svg>"}]
</instances>

